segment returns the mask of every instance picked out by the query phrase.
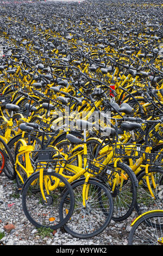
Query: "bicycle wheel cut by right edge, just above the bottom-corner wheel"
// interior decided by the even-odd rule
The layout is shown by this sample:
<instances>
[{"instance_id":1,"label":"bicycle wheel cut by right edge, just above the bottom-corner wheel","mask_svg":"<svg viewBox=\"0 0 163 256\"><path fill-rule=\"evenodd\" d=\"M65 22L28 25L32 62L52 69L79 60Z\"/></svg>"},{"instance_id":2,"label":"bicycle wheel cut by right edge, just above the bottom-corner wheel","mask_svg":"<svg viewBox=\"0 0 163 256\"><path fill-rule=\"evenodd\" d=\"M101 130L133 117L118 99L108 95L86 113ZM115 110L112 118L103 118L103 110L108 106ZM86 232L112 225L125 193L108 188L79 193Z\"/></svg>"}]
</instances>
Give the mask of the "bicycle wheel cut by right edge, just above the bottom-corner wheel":
<instances>
[{"instance_id":1,"label":"bicycle wheel cut by right edge, just above the bottom-corner wheel","mask_svg":"<svg viewBox=\"0 0 163 256\"><path fill-rule=\"evenodd\" d=\"M137 176L139 186L137 187L135 209L138 214L154 209L163 209L163 169L159 167L152 168L148 170L148 173L149 184L151 185L155 199L152 198L151 193L149 192L146 182L146 173L144 170ZM155 187L152 180L155 182Z\"/></svg>"}]
</instances>

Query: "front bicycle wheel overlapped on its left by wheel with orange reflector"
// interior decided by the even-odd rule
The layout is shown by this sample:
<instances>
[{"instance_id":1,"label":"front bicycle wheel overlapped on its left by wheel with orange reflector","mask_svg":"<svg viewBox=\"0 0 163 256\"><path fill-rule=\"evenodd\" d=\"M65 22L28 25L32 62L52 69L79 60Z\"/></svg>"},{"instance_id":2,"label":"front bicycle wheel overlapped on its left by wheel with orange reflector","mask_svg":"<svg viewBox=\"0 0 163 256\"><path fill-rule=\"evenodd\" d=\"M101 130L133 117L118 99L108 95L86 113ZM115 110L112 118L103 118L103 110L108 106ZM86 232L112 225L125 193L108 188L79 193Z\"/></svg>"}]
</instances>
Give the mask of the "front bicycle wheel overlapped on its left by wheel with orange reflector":
<instances>
[{"instance_id":1,"label":"front bicycle wheel overlapped on its left by wheel with orange reflector","mask_svg":"<svg viewBox=\"0 0 163 256\"><path fill-rule=\"evenodd\" d=\"M74 211L71 219L64 226L67 233L82 239L96 236L108 227L114 208L108 188L96 179L89 179L87 182L87 199L85 200L86 206L84 208L84 184L85 179L79 179L72 184ZM64 218L65 216L64 209L66 203L66 200L62 200L61 202L60 218Z\"/></svg>"}]
</instances>

